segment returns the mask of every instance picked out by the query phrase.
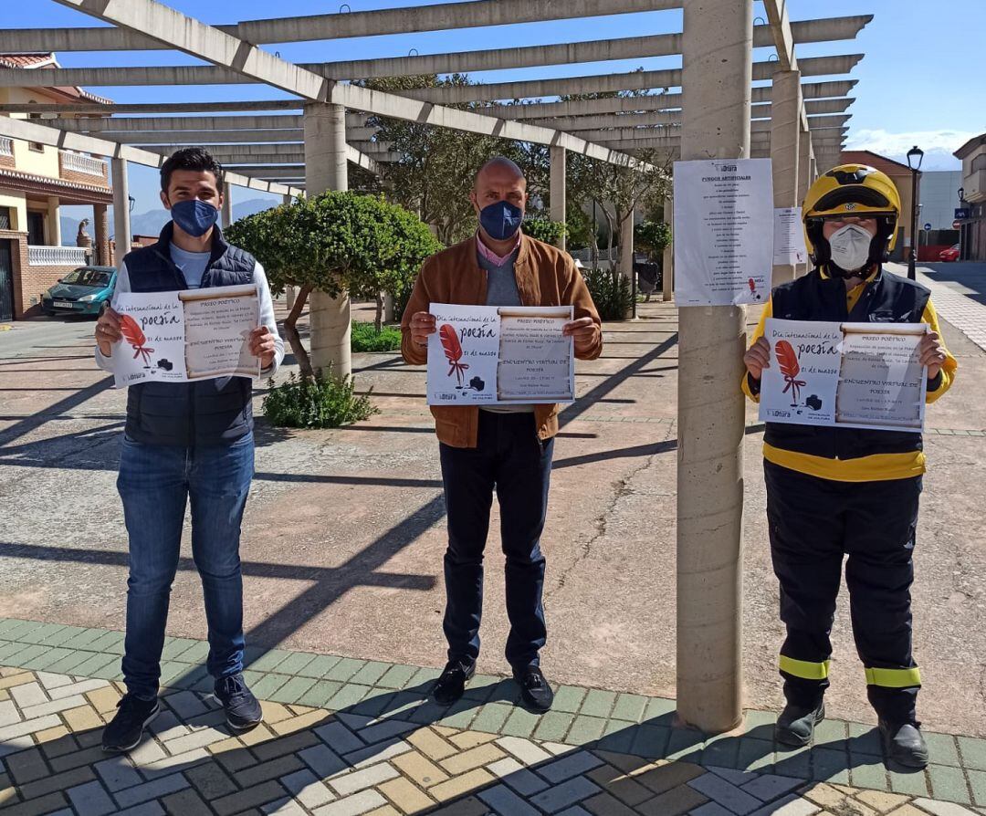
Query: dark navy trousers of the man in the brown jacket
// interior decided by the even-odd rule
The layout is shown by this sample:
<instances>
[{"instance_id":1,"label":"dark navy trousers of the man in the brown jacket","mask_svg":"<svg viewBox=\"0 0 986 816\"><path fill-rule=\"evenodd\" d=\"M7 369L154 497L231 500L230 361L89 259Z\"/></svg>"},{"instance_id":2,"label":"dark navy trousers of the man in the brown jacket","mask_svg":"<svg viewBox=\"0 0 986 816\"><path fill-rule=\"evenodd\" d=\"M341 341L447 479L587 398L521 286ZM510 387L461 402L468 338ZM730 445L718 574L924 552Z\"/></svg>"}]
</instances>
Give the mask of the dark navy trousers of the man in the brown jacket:
<instances>
[{"instance_id":1,"label":"dark navy trousers of the man in the brown jacket","mask_svg":"<svg viewBox=\"0 0 986 816\"><path fill-rule=\"evenodd\" d=\"M500 502L500 536L507 557L507 661L515 670L537 665L547 630L541 593L540 537L548 506L554 440L540 442L533 414L479 412L476 447L441 445L449 519L445 554L445 630L449 659L475 662L483 606L483 550L493 491Z\"/></svg>"}]
</instances>

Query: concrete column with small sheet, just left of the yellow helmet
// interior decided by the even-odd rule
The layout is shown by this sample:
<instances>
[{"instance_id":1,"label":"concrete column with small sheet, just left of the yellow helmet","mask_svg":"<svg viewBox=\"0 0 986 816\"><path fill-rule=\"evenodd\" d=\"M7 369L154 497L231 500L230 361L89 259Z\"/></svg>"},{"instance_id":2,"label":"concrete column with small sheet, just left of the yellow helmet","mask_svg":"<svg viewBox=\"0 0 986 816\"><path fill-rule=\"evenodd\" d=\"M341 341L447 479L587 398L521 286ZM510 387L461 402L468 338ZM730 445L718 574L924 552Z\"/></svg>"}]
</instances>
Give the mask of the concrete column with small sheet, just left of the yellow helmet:
<instances>
[{"instance_id":1,"label":"concrete column with small sheet, just left of the yellow helmet","mask_svg":"<svg viewBox=\"0 0 986 816\"><path fill-rule=\"evenodd\" d=\"M774 206L798 206L798 162L801 132L801 71L777 71L770 100L770 159L774 173ZM774 266L772 283L794 280L795 265Z\"/></svg>"}]
</instances>

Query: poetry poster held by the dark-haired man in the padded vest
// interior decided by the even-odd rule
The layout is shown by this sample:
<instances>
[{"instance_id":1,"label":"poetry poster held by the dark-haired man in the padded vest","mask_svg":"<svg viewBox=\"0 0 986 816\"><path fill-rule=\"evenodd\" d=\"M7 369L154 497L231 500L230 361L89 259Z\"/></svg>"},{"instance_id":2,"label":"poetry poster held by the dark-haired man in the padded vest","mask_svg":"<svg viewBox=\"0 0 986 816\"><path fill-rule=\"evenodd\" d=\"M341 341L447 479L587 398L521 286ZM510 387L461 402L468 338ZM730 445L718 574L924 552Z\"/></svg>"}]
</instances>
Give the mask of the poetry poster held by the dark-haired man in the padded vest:
<instances>
[{"instance_id":1,"label":"poetry poster held by the dark-haired man in the padded vest","mask_svg":"<svg viewBox=\"0 0 986 816\"><path fill-rule=\"evenodd\" d=\"M227 286L115 298L122 339L113 348L116 387L260 375L250 332L260 324L255 286Z\"/></svg>"}]
</instances>

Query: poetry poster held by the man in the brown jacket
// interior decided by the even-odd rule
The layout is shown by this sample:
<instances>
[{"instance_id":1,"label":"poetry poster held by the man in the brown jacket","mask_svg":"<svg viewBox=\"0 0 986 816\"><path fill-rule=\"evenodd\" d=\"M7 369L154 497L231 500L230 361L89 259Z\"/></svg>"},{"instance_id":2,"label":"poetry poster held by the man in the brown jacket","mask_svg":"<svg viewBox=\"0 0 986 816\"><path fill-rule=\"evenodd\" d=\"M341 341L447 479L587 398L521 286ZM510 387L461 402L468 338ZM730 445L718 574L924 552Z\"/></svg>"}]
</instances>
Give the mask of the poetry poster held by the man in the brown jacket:
<instances>
[{"instance_id":1,"label":"poetry poster held by the man in the brown jacket","mask_svg":"<svg viewBox=\"0 0 986 816\"><path fill-rule=\"evenodd\" d=\"M429 405L572 402L575 349L562 327L572 306L432 304Z\"/></svg>"}]
</instances>

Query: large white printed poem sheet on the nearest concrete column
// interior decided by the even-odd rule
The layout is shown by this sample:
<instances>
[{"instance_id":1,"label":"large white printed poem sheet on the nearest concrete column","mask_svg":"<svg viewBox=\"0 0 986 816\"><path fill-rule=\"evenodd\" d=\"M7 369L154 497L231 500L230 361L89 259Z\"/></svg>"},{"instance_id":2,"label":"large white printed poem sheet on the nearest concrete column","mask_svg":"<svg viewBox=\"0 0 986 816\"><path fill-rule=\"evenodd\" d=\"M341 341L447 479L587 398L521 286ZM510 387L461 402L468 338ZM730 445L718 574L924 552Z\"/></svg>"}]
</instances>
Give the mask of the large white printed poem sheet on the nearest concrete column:
<instances>
[{"instance_id":1,"label":"large white printed poem sheet on the nearest concrete column","mask_svg":"<svg viewBox=\"0 0 986 816\"><path fill-rule=\"evenodd\" d=\"M766 303L773 231L769 159L675 162L675 303Z\"/></svg>"}]
</instances>

